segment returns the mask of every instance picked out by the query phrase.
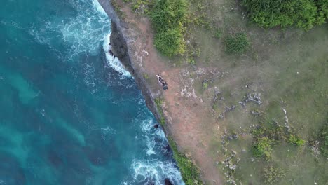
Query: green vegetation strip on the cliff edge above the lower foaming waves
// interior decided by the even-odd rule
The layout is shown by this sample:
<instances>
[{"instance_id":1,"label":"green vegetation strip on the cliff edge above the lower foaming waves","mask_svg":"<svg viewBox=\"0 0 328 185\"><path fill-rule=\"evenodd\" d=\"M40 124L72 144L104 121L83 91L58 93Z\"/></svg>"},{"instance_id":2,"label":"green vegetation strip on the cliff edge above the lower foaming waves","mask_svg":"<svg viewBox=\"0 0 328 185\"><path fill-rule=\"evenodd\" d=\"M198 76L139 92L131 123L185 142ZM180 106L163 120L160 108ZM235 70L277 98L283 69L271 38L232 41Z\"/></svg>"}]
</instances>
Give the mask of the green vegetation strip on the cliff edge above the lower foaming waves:
<instances>
[{"instance_id":1,"label":"green vegetation strip on the cliff edge above the lower foaming waves","mask_svg":"<svg viewBox=\"0 0 328 185\"><path fill-rule=\"evenodd\" d=\"M200 173L198 167L193 164L190 158L186 157L184 153L180 153L177 149L177 144L172 138L168 137L171 149L173 151L173 157L177 161L179 170L182 174L182 179L186 185L201 185L203 182L200 180Z\"/></svg>"}]
</instances>

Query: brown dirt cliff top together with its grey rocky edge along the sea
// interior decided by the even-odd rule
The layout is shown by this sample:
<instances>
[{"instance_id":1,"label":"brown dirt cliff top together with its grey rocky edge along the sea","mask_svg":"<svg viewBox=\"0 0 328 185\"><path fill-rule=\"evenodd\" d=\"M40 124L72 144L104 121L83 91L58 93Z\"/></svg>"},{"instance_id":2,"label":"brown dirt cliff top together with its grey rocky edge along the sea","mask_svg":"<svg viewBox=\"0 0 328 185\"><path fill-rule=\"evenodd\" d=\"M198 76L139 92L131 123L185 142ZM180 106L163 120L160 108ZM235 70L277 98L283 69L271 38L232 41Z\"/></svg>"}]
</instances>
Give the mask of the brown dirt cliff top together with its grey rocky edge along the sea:
<instances>
[{"instance_id":1,"label":"brown dirt cliff top together with its grey rocky edge along the sea","mask_svg":"<svg viewBox=\"0 0 328 185\"><path fill-rule=\"evenodd\" d=\"M195 90L186 90L189 80L184 81L184 71L188 69L172 66L170 59L158 53L148 18L136 16L123 1L116 1L119 12L111 1L98 1L111 18L112 52L135 78L146 106L162 126L184 182L221 184L217 165L206 152L210 138L200 132L204 128L199 123L213 120L204 116L207 107ZM165 92L158 85L156 74L167 81L169 89Z\"/></svg>"}]
</instances>

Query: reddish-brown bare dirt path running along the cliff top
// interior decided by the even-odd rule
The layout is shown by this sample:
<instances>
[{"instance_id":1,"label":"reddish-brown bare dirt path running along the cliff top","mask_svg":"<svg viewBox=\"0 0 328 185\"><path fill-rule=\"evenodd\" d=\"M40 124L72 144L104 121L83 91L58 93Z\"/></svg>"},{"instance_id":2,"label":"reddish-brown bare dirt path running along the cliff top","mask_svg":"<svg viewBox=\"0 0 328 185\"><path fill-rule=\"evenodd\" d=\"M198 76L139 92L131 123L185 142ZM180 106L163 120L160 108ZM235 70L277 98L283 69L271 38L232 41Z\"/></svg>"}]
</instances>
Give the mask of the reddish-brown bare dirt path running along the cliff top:
<instances>
[{"instance_id":1,"label":"reddish-brown bare dirt path running along the cliff top","mask_svg":"<svg viewBox=\"0 0 328 185\"><path fill-rule=\"evenodd\" d=\"M179 148L196 160L202 172L202 178L210 184L221 184L219 172L215 162L208 156L208 146L211 136L205 135L206 126L213 125L214 121L207 118L208 111L203 101L196 96L195 90L189 89L190 79L183 74L189 69L181 67L170 67L168 60L163 60L153 46L153 32L151 24L147 18L142 18L133 13L121 0L121 5L125 13L125 22L129 27L133 27L139 32L136 34L132 44L135 57L140 57L139 70L148 74L149 78L156 79L156 74L161 74L168 82L169 89L163 92L160 85L155 80L150 82L151 88L163 93L165 102L163 111L168 118L168 128L172 137L177 142ZM133 61L135 62L135 61ZM212 123L208 123L212 122ZM210 129L209 127L208 129Z\"/></svg>"}]
</instances>

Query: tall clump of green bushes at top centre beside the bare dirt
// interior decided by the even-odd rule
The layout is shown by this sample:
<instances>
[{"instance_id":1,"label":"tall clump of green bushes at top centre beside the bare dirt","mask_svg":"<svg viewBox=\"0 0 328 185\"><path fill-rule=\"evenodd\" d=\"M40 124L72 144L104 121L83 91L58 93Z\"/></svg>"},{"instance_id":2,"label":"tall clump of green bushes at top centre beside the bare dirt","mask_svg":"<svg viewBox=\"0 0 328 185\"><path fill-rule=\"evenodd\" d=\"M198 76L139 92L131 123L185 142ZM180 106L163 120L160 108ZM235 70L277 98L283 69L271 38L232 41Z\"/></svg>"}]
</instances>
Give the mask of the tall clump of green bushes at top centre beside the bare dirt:
<instances>
[{"instance_id":1,"label":"tall clump of green bushes at top centre beside the bare dirt","mask_svg":"<svg viewBox=\"0 0 328 185\"><path fill-rule=\"evenodd\" d=\"M156 29L155 46L164 55L184 53L185 0L158 0L151 11L151 21Z\"/></svg>"}]
</instances>

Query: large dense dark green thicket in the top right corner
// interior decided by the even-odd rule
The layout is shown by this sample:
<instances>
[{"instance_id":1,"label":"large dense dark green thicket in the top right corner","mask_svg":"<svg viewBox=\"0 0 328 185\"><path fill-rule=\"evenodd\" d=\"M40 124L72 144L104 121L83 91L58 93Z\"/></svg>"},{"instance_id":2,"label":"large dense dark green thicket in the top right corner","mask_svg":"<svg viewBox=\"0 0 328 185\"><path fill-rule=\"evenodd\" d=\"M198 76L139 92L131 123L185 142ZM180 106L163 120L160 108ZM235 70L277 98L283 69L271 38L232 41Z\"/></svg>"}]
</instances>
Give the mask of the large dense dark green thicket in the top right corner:
<instances>
[{"instance_id":1,"label":"large dense dark green thicket in the top right corner","mask_svg":"<svg viewBox=\"0 0 328 185\"><path fill-rule=\"evenodd\" d=\"M327 0L242 0L251 20L261 27L311 29L327 18Z\"/></svg>"}]
</instances>

